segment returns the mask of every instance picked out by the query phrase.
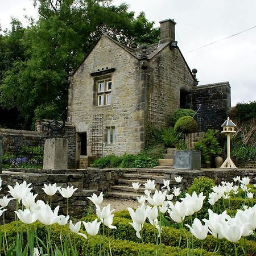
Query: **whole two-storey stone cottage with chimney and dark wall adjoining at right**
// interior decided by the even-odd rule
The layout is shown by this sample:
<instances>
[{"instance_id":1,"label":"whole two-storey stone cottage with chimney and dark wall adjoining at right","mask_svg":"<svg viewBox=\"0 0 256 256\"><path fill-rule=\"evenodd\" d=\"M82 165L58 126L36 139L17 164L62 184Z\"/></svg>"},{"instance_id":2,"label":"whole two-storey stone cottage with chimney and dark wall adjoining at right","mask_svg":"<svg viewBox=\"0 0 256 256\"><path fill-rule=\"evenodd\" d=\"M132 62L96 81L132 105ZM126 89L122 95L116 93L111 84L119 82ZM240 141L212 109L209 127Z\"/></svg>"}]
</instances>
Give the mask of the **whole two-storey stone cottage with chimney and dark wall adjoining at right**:
<instances>
[{"instance_id":1,"label":"whole two-storey stone cottage with chimney and dark wall adjoining at right","mask_svg":"<svg viewBox=\"0 0 256 256\"><path fill-rule=\"evenodd\" d=\"M175 24L161 21L159 43L139 48L104 34L69 76L77 163L83 156L141 151L148 123L169 126L179 108L200 106L202 117L220 118L217 125L226 118L229 83L197 86L196 70L191 72L177 47Z\"/></svg>"}]
</instances>

